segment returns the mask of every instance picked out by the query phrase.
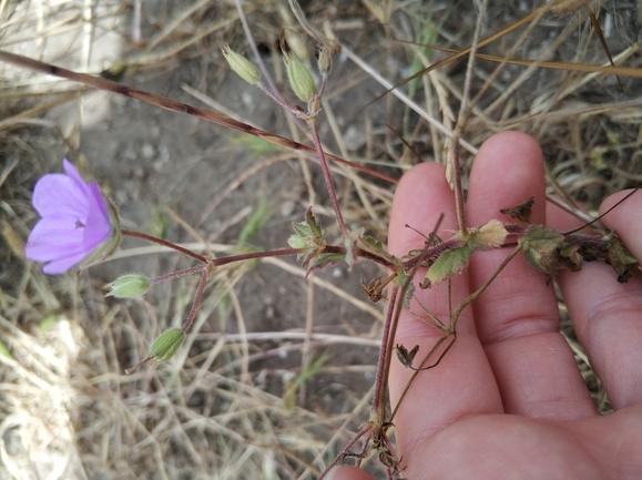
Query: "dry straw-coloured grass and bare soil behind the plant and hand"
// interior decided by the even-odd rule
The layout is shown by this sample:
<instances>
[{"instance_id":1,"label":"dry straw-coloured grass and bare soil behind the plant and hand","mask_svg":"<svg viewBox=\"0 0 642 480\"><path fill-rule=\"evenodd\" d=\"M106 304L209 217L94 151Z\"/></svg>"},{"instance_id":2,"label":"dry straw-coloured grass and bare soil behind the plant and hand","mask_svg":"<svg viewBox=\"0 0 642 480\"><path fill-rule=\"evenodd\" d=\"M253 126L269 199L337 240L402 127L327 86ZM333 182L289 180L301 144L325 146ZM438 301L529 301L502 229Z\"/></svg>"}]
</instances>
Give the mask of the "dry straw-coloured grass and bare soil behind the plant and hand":
<instances>
[{"instance_id":1,"label":"dry straw-coloured grass and bare soil behind the plant and hand","mask_svg":"<svg viewBox=\"0 0 642 480\"><path fill-rule=\"evenodd\" d=\"M414 104L390 94L361 109L383 92L377 72L396 83L448 54L406 42L468 47L476 22L470 7L465 12L438 0L335 3L312 2L306 8L316 28L323 29L326 20L348 47L347 59L336 59L320 119L328 147L395 177L417 161L414 152L425 160L444 161L447 135L441 131L455 126L466 58L400 89ZM486 14L482 38L529 13L519 2L497 3ZM122 81L130 85L143 90L151 85L165 94L162 85L173 82L183 86L182 92L172 90L183 101L204 102L243 122L307 142L296 122L249 86L227 78L220 47L230 43L246 52L248 44L233 2L88 4L0 2L2 49L91 73L126 65ZM132 28L134 6L142 6L140 47L134 44L139 34ZM601 23L613 58L639 69L641 57L632 37L640 24L635 3L603 7ZM296 28L294 17L273 2L244 2L243 9L264 59L279 65L271 62L278 57L276 39L282 27ZM288 41L302 58L312 57L312 43L303 37ZM485 93L471 104L466 123L469 151L497 131L528 132L544 151L550 192L561 188L589 211L605 195L642 181L639 78L621 75L625 92L621 93L613 76L542 67L544 61L607 64L582 10L544 13L499 38L483 53L532 63L502 64L492 58L476 62L471 96L482 89ZM22 248L35 221L29 203L32 185L58 168L64 155L88 174L89 165L98 166L98 176L111 184L121 207L140 197L141 211L126 210L132 221L215 255L247 247L238 235L257 205L272 212L251 237L261 245L284 246L287 223L299 219L309 204L315 204L325 225L332 225L332 211L322 205L325 197L319 194L316 166L300 153L266 150L218 129L213 133L222 133L216 152L241 155L234 156L237 160L258 159L256 163L238 160L237 168L222 163L221 177L205 180L220 186L213 188L217 194L190 207L187 197L197 178L187 175L205 163L212 149L207 145L182 159L183 183L167 182L167 195L149 196L146 182L153 182L153 175L136 176L134 168L130 178L119 173L130 168L126 163L83 156L88 131L96 124L118 124L118 119L103 116L96 106L105 96L86 95L82 85L16 67L0 69L4 112L0 119L0 477L314 477L368 415L381 315L379 307L357 294L355 273L335 268L304 280L304 272L284 261L222 268L210 283L193 334L177 358L125 377L123 368L140 359L156 335L184 318L196 280L163 285L133 302L106 300L101 286L119 272L149 268L162 274L183 267L184 261L128 244L114 262L78 278L48 278L24 261ZM172 76L174 72L182 76ZM274 79L284 83L281 67L275 68ZM125 112L134 109L132 103L124 105ZM175 114L163 115L161 121ZM384 121L414 152L383 126ZM186 143L197 143L202 126L194 125L200 124L184 123L176 135L184 137L193 129ZM110 130L102 130L109 139ZM116 140L106 142L112 141ZM152 163L161 153L149 159L143 152L134 160ZM346 221L384 238L391 185L344 166L335 170ZM187 200L181 203L181 198ZM329 229L330 236L336 235ZM607 411L608 399L564 318L563 305L561 309L562 331L595 401Z\"/></svg>"}]
</instances>

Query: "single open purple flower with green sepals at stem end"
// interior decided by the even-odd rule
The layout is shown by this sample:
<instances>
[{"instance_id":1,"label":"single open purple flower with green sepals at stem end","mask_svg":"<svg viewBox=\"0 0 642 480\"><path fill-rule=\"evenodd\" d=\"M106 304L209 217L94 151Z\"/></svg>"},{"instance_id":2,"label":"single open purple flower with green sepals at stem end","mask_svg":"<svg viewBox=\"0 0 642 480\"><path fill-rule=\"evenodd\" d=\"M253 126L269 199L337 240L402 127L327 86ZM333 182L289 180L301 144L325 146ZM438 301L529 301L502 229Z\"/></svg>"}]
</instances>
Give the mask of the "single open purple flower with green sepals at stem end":
<instances>
[{"instance_id":1,"label":"single open purple flower with green sepals at stem end","mask_svg":"<svg viewBox=\"0 0 642 480\"><path fill-rule=\"evenodd\" d=\"M63 274L86 257L95 261L120 243L115 208L67 159L62 166L65 174L51 173L35 183L32 203L42 218L24 247L27 258L48 262L42 272L49 275Z\"/></svg>"}]
</instances>

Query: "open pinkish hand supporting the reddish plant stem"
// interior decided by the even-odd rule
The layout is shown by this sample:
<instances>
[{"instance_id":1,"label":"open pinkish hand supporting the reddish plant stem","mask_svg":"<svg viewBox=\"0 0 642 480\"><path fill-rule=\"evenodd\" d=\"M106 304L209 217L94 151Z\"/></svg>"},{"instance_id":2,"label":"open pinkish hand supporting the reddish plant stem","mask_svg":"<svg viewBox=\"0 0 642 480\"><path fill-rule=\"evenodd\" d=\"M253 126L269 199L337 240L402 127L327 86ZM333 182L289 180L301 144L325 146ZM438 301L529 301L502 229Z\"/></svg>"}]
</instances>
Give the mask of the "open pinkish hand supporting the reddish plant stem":
<instances>
[{"instance_id":1,"label":"open pinkish hand supporting the reddish plant stem","mask_svg":"<svg viewBox=\"0 0 642 480\"><path fill-rule=\"evenodd\" d=\"M608 197L605 212L626 192ZM490 137L475 159L467 216L476 226L534 196L531 222L568 231L582 223L546 202L542 153L528 135L503 132ZM402 256L422 248L420 232L432 231L445 213L440 236L457 229L454 195L441 165L410 170L395 194L389 249ZM642 192L602 218L642 264ZM452 282L454 308L490 276L510 249L480 252ZM422 278L419 270L416 283ZM626 284L603 262L580 272L561 270L557 280L578 339L602 380L614 412L598 412L559 333L558 304L546 275L522 254L461 314L457 341L434 369L415 379L394 419L400 477L418 479L640 479L642 478L642 277ZM416 295L448 321L446 283ZM415 312L420 308L411 304ZM440 333L401 314L396 344L415 361ZM389 392L396 406L411 370L394 360ZM371 477L355 467L330 471L332 480Z\"/></svg>"}]
</instances>

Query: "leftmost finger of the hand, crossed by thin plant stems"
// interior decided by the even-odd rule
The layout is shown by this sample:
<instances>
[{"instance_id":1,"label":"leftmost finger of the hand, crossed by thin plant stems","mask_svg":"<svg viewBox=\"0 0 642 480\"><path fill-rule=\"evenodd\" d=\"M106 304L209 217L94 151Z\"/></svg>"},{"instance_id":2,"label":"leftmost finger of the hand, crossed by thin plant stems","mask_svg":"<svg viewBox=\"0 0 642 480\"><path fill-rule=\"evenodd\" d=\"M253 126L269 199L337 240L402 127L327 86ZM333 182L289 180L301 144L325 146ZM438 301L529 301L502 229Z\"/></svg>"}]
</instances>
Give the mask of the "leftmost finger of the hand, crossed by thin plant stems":
<instances>
[{"instance_id":1,"label":"leftmost finger of the hand, crossed by thin plant stems","mask_svg":"<svg viewBox=\"0 0 642 480\"><path fill-rule=\"evenodd\" d=\"M445 168L434 163L424 163L410 170L400 181L393 203L389 224L389 251L401 257L410 249L424 247L424 237L409 225L426 235L429 234L444 213L440 235L452 236L448 229L457 228L452 191L445 180ZM425 307L430 309L445 324L449 320L447 282L421 290L417 284L426 274L420 268L415 278L415 295ZM452 306L456 308L469 294L466 274L452 280ZM419 316L427 317L418 302L410 308ZM404 398L393 422L396 426L398 455L407 466L408 478L418 478L420 471L412 473L417 466L415 459L426 457L424 440L458 419L481 413L500 413L502 404L497 385L483 349L477 337L470 308L459 318L457 341L437 368L420 371ZM414 365L436 345L442 331L424 323L407 312L402 312L397 327L395 344L408 350L419 346ZM436 358L431 361L434 362ZM412 370L404 367L397 359L390 366L390 401L393 408Z\"/></svg>"}]
</instances>

